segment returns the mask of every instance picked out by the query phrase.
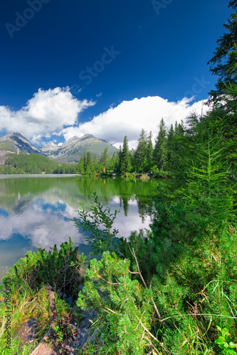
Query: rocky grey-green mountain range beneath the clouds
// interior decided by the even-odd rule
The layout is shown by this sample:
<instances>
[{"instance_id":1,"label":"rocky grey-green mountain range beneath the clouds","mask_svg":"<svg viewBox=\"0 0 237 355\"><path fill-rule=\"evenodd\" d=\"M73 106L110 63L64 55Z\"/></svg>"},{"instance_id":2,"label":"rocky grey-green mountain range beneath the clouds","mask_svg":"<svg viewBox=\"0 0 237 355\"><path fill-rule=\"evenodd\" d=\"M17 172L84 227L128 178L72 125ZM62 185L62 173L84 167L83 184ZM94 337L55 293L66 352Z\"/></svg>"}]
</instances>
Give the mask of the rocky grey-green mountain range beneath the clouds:
<instances>
[{"instance_id":1,"label":"rocky grey-green mountain range beneath the clouds","mask_svg":"<svg viewBox=\"0 0 237 355\"><path fill-rule=\"evenodd\" d=\"M2 152L16 153L19 150L24 154L44 155L61 163L78 162L84 151L89 151L92 157L96 154L99 158L105 148L107 148L107 153L110 157L118 151L117 148L104 139L95 138L92 134L85 134L85 136L80 138L74 136L65 141L62 146L57 146L51 142L42 148L33 146L21 133L12 132L0 137L0 149Z\"/></svg>"}]
</instances>

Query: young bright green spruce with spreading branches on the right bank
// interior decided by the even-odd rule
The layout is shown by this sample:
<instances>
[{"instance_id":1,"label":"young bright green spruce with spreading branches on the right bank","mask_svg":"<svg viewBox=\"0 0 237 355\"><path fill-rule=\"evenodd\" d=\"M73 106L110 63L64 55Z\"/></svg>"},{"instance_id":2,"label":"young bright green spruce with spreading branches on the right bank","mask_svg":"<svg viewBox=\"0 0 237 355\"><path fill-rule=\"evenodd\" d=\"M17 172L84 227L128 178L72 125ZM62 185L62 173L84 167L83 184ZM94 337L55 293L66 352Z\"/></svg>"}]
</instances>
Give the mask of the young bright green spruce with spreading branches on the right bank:
<instances>
[{"instance_id":1,"label":"young bright green spruce with spreading branches on the right bank","mask_svg":"<svg viewBox=\"0 0 237 355\"><path fill-rule=\"evenodd\" d=\"M201 124L199 124L201 126ZM204 126L205 127L205 126ZM201 128L196 137L196 148L190 157L189 185L186 203L207 219L209 225L221 229L221 224L231 218L233 197L228 182L228 163L221 154L221 135ZM227 188L228 187L228 188Z\"/></svg>"}]
</instances>

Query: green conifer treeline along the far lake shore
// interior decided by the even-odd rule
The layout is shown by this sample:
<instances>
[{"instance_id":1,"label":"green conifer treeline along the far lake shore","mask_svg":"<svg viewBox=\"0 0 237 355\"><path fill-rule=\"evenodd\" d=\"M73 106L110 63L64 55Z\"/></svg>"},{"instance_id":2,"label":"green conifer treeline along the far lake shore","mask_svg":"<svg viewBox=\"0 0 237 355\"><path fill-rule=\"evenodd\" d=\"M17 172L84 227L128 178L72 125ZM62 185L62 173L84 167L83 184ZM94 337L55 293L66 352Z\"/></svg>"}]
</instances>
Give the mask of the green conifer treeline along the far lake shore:
<instances>
[{"instance_id":1,"label":"green conifer treeline along the far lake shore","mask_svg":"<svg viewBox=\"0 0 237 355\"><path fill-rule=\"evenodd\" d=\"M142 129L137 148L129 151L127 136L122 147L112 157L107 153L107 148L100 157L95 154L93 158L90 152L85 152L78 163L58 163L43 155L34 153L16 155L12 153L6 158L5 165L0 166L1 174L75 174L95 175L101 173L153 173L156 176L165 176L172 170L174 161L179 158L180 145L183 144L185 134L184 123L171 125L167 130L164 119L160 121L159 133L154 147L152 146L152 132L147 133ZM167 173L168 175L168 173Z\"/></svg>"}]
</instances>

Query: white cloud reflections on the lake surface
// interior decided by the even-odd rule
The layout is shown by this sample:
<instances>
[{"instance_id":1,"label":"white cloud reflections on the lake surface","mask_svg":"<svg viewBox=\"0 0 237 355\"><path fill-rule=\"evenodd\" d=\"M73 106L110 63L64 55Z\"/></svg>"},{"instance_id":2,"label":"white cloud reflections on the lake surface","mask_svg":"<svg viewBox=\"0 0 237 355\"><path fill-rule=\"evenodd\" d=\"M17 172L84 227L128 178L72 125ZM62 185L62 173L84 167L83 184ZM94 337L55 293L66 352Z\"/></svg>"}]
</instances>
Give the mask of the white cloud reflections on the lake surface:
<instances>
[{"instance_id":1,"label":"white cloud reflections on the lake surface","mask_svg":"<svg viewBox=\"0 0 237 355\"><path fill-rule=\"evenodd\" d=\"M32 200L29 195L29 201L26 204L21 204L21 209L18 213L9 213L9 216L0 214L0 241L9 240L14 233L19 233L24 238L30 238L34 247L45 248L48 250L50 246L57 244L60 246L63 241L68 240L69 236L73 240L73 244L88 244L85 240L86 234L81 233L80 229L75 228L71 220L73 217L78 217L78 212L75 211L75 206L65 202L65 198L59 197L57 190L47 190L41 195L41 198L36 197ZM47 197L46 197L47 195ZM59 199L58 199L59 197ZM60 209L62 204L62 209ZM111 212L115 209L120 209L120 198L114 197L108 202L111 207ZM150 218L144 216L143 220L139 216L137 201L130 199L128 201L130 214L125 217L121 211L115 219L114 227L119 229L117 236L130 235L130 231L139 228L149 228ZM76 201L78 205L78 200ZM46 208L46 206L48 206ZM1 267L1 263L0 263Z\"/></svg>"}]
</instances>

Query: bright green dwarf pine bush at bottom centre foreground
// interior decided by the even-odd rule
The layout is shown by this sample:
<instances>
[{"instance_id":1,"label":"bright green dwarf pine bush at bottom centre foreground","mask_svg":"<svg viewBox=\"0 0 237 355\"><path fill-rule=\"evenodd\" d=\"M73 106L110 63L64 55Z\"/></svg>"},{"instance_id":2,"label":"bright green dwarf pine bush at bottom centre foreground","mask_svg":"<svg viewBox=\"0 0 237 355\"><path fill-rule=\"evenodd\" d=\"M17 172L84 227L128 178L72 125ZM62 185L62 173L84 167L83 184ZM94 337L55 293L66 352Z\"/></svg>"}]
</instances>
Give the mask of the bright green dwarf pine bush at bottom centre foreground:
<instances>
[{"instance_id":1,"label":"bright green dwarf pine bush at bottom centre foreground","mask_svg":"<svg viewBox=\"0 0 237 355\"><path fill-rule=\"evenodd\" d=\"M100 354L144 354L151 346L149 330L152 317L152 290L142 289L132 280L130 261L115 253L103 253L101 261L93 259L86 273L83 292L77 305L98 313L103 345ZM159 344L158 344L159 346Z\"/></svg>"}]
</instances>

